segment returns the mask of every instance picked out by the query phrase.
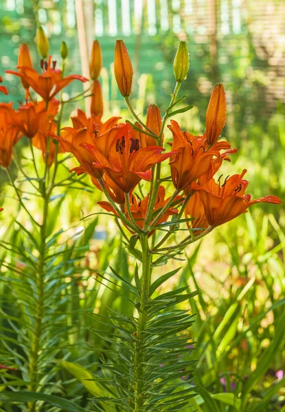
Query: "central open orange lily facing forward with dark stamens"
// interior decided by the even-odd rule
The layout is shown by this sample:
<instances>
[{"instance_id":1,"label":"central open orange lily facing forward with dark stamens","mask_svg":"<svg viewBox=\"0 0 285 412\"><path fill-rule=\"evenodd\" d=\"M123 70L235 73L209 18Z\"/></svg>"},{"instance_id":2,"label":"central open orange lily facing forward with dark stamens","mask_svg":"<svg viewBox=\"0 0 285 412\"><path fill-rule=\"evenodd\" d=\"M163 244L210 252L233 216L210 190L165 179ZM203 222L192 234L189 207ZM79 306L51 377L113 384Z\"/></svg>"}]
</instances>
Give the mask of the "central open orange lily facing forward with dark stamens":
<instances>
[{"instance_id":1,"label":"central open orange lily facing forward with dark stamens","mask_svg":"<svg viewBox=\"0 0 285 412\"><path fill-rule=\"evenodd\" d=\"M133 128L129 124L121 125L113 139L107 156L98 147L82 144L93 155L93 166L101 169L121 188L131 192L141 179L151 180L151 168L156 163L168 159L174 152L161 153L158 146L139 147Z\"/></svg>"}]
</instances>

